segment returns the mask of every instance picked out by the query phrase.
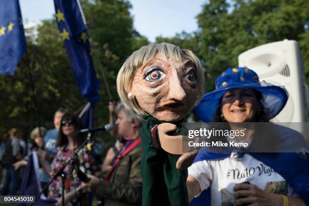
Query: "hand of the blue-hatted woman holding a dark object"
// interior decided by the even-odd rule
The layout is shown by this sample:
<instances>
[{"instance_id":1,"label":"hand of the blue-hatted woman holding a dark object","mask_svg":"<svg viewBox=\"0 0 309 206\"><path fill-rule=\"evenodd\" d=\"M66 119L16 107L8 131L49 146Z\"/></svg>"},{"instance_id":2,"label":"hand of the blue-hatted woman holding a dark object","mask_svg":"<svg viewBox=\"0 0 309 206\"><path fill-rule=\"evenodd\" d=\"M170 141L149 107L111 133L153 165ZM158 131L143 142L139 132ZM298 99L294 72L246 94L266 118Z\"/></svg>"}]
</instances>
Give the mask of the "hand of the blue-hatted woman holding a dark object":
<instances>
[{"instance_id":1,"label":"hand of the blue-hatted woman holding a dark object","mask_svg":"<svg viewBox=\"0 0 309 206\"><path fill-rule=\"evenodd\" d=\"M252 184L237 184L233 190L237 205L283 205L283 198L280 194L267 192Z\"/></svg>"}]
</instances>

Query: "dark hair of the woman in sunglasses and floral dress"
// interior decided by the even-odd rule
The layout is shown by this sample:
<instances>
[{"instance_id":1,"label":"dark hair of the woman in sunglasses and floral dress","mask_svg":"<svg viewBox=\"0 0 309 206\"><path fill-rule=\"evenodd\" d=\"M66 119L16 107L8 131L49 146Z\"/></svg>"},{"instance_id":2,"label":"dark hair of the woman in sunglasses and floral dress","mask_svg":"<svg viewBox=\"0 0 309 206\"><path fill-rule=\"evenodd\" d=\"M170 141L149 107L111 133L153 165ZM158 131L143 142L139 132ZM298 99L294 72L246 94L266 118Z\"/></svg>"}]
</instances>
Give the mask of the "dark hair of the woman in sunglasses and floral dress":
<instances>
[{"instance_id":1,"label":"dark hair of the woman in sunglasses and floral dress","mask_svg":"<svg viewBox=\"0 0 309 206\"><path fill-rule=\"evenodd\" d=\"M76 132L74 144L76 146L80 146L86 140L86 136L84 134L77 133L77 131L83 129L80 119L73 113L67 112L61 118L61 123L63 121L72 121L72 125L74 126L74 131ZM63 125L60 124L59 134L58 134L58 139L57 139L57 146L64 146L68 144L68 137L63 133L62 127Z\"/></svg>"}]
</instances>

